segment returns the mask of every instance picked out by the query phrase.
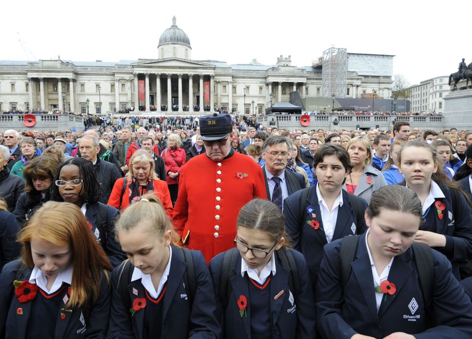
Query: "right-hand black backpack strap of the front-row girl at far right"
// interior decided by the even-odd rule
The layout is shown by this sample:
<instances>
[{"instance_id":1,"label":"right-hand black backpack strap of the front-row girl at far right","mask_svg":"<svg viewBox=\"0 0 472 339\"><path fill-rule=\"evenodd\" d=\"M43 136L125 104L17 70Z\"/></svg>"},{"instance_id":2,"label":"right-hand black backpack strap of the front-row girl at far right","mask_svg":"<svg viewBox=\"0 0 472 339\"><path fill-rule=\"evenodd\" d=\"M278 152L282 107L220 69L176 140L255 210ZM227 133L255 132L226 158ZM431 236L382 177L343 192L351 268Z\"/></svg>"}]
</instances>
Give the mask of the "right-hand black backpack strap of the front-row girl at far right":
<instances>
[{"instance_id":1,"label":"right-hand black backpack strap of the front-row girl at far right","mask_svg":"<svg viewBox=\"0 0 472 339\"><path fill-rule=\"evenodd\" d=\"M431 297L433 295L433 281L434 281L434 263L433 253L431 248L425 244L413 243L413 258L418 272L419 283L423 291L425 309L431 307Z\"/></svg>"}]
</instances>

